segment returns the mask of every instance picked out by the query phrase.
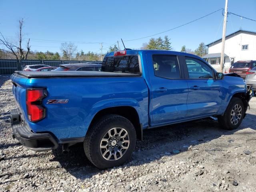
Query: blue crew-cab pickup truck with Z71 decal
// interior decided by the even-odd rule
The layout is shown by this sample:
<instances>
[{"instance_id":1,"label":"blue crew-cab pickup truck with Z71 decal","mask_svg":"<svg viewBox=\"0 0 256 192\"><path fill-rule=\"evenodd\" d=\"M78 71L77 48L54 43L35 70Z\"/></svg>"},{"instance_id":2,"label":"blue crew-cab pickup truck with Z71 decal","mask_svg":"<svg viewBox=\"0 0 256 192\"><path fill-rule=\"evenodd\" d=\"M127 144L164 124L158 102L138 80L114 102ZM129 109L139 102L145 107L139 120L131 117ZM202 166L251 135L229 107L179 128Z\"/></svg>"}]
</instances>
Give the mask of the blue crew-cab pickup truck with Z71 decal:
<instances>
[{"instance_id":1,"label":"blue crew-cab pickup truck with Z71 decal","mask_svg":"<svg viewBox=\"0 0 256 192\"><path fill-rule=\"evenodd\" d=\"M216 72L182 52L106 54L101 72L21 72L11 76L17 107L13 136L35 151L84 143L96 167L123 164L144 129L201 118L240 126L252 90L236 74Z\"/></svg>"}]
</instances>

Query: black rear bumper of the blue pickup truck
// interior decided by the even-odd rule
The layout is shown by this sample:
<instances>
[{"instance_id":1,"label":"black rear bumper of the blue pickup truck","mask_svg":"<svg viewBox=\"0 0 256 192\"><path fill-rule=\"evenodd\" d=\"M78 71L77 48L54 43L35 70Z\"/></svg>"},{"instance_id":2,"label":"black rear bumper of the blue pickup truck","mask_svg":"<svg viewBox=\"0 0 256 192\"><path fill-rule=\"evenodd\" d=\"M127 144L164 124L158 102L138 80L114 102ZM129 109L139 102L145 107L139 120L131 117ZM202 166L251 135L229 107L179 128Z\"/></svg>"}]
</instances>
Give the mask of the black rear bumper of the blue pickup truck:
<instances>
[{"instance_id":1,"label":"black rear bumper of the blue pickup truck","mask_svg":"<svg viewBox=\"0 0 256 192\"><path fill-rule=\"evenodd\" d=\"M12 132L14 137L31 150L41 152L58 148L58 142L50 133L34 133L22 123L20 111L11 110Z\"/></svg>"}]
</instances>

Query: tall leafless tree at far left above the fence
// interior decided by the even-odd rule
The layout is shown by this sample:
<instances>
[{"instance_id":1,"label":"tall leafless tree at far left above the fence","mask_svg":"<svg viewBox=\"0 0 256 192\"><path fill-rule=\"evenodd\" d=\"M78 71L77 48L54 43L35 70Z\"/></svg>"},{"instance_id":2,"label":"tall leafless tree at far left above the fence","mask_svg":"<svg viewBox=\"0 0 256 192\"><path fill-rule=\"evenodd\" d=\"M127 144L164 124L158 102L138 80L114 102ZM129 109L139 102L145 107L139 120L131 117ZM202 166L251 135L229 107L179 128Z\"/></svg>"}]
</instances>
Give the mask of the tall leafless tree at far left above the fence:
<instances>
[{"instance_id":1,"label":"tall leafless tree at far left above the fence","mask_svg":"<svg viewBox=\"0 0 256 192\"><path fill-rule=\"evenodd\" d=\"M30 52L30 39L28 39L28 43L26 46L26 51L24 51L24 49L22 48L22 28L24 25L24 19L22 18L21 20L19 20L19 44L18 46L13 43L11 40L7 40L6 38L4 38L3 34L0 32L0 44L3 44L8 51L13 54L17 60L24 60L27 59L28 57L28 53Z\"/></svg>"}]
</instances>

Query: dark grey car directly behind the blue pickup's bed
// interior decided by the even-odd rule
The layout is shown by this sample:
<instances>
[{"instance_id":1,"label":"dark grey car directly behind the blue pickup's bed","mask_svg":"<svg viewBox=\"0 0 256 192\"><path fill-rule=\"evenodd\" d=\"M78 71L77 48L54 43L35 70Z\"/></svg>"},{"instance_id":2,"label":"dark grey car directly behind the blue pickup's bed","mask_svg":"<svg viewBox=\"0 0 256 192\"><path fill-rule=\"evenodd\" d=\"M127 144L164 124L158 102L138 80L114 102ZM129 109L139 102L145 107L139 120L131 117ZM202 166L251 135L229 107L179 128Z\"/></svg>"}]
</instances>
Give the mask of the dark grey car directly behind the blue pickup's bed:
<instances>
[{"instance_id":1,"label":"dark grey car directly behind the blue pickup's bed","mask_svg":"<svg viewBox=\"0 0 256 192\"><path fill-rule=\"evenodd\" d=\"M56 68L54 71L101 71L101 64L63 64Z\"/></svg>"}]
</instances>

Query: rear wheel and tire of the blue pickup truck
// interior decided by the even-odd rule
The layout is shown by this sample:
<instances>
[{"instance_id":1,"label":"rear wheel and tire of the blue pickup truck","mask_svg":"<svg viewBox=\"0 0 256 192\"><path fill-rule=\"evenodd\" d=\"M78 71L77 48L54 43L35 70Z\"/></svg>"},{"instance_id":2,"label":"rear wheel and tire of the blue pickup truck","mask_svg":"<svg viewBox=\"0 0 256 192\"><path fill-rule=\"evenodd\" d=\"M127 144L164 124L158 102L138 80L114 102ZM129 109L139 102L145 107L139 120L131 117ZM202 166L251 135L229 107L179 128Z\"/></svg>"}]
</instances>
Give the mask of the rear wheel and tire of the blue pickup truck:
<instances>
[{"instance_id":1,"label":"rear wheel and tire of the blue pickup truck","mask_svg":"<svg viewBox=\"0 0 256 192\"><path fill-rule=\"evenodd\" d=\"M136 130L119 115L103 116L89 130L84 140L84 152L97 168L119 166L132 155Z\"/></svg>"}]
</instances>

